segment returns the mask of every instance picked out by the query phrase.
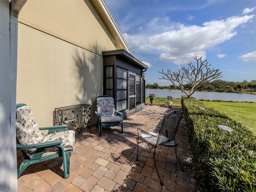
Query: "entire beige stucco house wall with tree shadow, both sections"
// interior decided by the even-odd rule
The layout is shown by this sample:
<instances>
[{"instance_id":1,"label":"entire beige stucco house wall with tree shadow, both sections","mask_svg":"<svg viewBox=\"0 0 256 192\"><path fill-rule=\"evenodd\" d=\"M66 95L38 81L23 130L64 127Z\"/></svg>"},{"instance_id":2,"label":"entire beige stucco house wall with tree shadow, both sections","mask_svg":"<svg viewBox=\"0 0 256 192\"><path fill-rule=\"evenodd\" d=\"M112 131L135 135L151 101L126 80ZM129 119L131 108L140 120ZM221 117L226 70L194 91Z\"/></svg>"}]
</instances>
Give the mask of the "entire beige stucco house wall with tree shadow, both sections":
<instances>
[{"instance_id":1,"label":"entire beige stucco house wall with tree shadow, both sections","mask_svg":"<svg viewBox=\"0 0 256 192\"><path fill-rule=\"evenodd\" d=\"M83 0L29 0L19 21L17 103L41 127L52 125L54 108L92 104L95 124L102 51L119 48L96 10Z\"/></svg>"}]
</instances>

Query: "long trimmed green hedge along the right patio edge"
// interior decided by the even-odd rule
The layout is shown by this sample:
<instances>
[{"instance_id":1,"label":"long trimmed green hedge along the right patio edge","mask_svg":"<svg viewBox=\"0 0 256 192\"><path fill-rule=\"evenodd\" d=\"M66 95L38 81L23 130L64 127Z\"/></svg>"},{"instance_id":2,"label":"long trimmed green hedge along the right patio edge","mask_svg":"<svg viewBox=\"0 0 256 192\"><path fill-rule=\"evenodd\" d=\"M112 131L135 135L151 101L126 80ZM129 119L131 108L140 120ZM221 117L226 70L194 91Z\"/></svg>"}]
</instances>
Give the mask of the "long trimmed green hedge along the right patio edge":
<instances>
[{"instance_id":1,"label":"long trimmed green hedge along the right patio edge","mask_svg":"<svg viewBox=\"0 0 256 192\"><path fill-rule=\"evenodd\" d=\"M182 109L196 190L256 192L256 137L195 98L182 96ZM234 131L220 130L218 125Z\"/></svg>"}]
</instances>

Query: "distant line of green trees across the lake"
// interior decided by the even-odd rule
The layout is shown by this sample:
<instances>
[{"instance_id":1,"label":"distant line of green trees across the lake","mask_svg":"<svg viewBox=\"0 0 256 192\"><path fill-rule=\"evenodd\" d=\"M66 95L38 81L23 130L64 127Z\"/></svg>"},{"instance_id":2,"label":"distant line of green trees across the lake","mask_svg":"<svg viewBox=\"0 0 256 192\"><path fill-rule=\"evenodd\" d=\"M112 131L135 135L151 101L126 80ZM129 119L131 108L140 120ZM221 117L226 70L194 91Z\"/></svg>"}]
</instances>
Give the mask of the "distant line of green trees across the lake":
<instances>
[{"instance_id":1,"label":"distant line of green trees across the lake","mask_svg":"<svg viewBox=\"0 0 256 192\"><path fill-rule=\"evenodd\" d=\"M185 90L190 90L192 84L182 85ZM146 89L178 89L174 85L170 86L158 86L157 83L153 85L147 84ZM214 80L212 82L206 82L198 88L198 91L218 91L218 92L256 92L256 80L250 82L244 80L243 82L233 82L224 80Z\"/></svg>"}]
</instances>

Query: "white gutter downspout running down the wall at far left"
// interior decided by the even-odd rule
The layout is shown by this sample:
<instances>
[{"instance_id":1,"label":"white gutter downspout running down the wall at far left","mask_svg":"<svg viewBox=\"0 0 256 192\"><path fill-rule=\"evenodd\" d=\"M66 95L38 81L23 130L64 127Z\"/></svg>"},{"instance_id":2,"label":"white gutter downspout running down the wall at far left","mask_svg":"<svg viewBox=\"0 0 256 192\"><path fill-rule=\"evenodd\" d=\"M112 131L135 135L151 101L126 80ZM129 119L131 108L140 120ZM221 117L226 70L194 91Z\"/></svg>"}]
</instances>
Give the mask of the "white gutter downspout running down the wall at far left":
<instances>
[{"instance_id":1,"label":"white gutter downspout running down the wall at far left","mask_svg":"<svg viewBox=\"0 0 256 192\"><path fill-rule=\"evenodd\" d=\"M27 0L10 0L10 191L18 191L16 154L16 85L18 16Z\"/></svg>"}]
</instances>

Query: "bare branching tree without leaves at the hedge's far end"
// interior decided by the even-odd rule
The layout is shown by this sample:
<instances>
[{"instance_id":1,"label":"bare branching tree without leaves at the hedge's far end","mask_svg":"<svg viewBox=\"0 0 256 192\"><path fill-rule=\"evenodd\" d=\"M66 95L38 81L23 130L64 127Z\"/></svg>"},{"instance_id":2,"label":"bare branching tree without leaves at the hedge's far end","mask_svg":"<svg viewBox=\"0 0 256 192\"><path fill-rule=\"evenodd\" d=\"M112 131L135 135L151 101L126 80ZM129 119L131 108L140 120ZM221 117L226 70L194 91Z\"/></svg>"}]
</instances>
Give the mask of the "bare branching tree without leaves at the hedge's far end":
<instances>
[{"instance_id":1,"label":"bare branching tree without leaves at the hedge's far end","mask_svg":"<svg viewBox=\"0 0 256 192\"><path fill-rule=\"evenodd\" d=\"M219 69L211 69L210 66L212 64L208 64L208 62L206 62L207 60L202 62L202 57L199 59L195 57L194 60L197 61L197 66L194 66L191 63L188 64L188 68L180 66L181 69L179 69L178 72L172 72L170 69L168 69L167 73L164 72L163 69L162 72L158 71L162 74L162 78L159 79L170 80L174 86L180 88L189 98L206 82L222 77L222 72L220 72ZM186 83L192 84L192 88L189 93L186 92L182 86Z\"/></svg>"}]
</instances>

